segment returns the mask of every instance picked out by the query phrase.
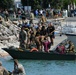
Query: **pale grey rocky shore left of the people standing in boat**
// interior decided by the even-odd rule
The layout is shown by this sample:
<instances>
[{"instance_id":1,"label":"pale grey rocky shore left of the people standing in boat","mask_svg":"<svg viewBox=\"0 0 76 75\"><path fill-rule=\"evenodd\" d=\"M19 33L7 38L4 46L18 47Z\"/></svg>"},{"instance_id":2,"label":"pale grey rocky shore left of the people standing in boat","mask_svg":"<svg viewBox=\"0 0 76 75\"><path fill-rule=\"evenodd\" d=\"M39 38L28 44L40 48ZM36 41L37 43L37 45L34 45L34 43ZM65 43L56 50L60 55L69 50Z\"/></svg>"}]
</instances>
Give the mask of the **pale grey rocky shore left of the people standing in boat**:
<instances>
[{"instance_id":1,"label":"pale grey rocky shore left of the people standing in boat","mask_svg":"<svg viewBox=\"0 0 76 75\"><path fill-rule=\"evenodd\" d=\"M0 19L0 57L2 57L8 55L8 53L2 50L2 48L9 46L19 46L18 34L20 28L18 27L17 21L5 21L1 16Z\"/></svg>"}]
</instances>

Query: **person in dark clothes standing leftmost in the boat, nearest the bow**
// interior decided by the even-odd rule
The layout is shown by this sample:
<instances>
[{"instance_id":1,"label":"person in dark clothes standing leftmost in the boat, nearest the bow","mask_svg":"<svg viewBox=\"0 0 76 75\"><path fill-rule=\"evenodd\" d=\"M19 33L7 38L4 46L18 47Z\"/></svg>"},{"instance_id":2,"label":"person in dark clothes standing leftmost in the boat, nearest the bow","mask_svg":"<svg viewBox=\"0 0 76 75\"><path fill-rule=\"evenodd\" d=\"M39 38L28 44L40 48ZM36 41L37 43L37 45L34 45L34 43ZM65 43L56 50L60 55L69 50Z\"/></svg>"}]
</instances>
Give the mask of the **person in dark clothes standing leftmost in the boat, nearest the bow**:
<instances>
[{"instance_id":1,"label":"person in dark clothes standing leftmost in the boat, nearest the bow","mask_svg":"<svg viewBox=\"0 0 76 75\"><path fill-rule=\"evenodd\" d=\"M27 44L27 32L25 31L24 26L22 26L21 31L19 33L19 41L20 41L20 48L25 49Z\"/></svg>"}]
</instances>

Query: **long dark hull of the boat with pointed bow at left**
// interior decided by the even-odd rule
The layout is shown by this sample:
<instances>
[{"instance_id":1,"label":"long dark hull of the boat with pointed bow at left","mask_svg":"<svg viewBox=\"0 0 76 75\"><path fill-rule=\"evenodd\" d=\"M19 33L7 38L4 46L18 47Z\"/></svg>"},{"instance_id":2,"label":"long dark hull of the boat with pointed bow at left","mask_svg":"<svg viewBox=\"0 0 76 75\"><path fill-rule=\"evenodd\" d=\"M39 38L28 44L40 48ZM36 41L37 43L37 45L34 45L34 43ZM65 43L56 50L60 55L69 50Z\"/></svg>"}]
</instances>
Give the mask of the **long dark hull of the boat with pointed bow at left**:
<instances>
[{"instance_id":1,"label":"long dark hull of the boat with pointed bow at left","mask_svg":"<svg viewBox=\"0 0 76 75\"><path fill-rule=\"evenodd\" d=\"M57 54L54 52L29 52L29 51L19 51L8 48L3 48L8 52L13 59L31 59L31 60L75 60L75 54Z\"/></svg>"}]
</instances>

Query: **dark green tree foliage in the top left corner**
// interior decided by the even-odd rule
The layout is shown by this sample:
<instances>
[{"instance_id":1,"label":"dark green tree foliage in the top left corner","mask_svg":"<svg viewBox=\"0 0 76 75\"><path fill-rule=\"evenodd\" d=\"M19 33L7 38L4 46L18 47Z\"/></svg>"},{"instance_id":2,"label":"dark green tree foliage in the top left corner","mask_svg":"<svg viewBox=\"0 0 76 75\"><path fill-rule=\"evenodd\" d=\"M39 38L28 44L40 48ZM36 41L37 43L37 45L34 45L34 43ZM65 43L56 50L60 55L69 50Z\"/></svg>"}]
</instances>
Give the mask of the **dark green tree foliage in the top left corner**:
<instances>
[{"instance_id":1,"label":"dark green tree foliage in the top left corner","mask_svg":"<svg viewBox=\"0 0 76 75\"><path fill-rule=\"evenodd\" d=\"M0 8L8 9L13 7L14 1L13 0L0 0Z\"/></svg>"}]
</instances>

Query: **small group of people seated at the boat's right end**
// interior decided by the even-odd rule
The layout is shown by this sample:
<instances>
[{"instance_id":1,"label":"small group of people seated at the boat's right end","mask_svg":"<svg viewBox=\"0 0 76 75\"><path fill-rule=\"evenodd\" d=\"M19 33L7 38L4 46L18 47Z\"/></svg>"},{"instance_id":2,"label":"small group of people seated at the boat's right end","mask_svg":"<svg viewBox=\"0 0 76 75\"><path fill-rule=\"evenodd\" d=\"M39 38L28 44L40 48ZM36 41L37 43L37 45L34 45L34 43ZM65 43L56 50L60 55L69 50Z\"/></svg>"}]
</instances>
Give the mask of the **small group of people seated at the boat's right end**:
<instances>
[{"instance_id":1,"label":"small group of people seated at the boat's right end","mask_svg":"<svg viewBox=\"0 0 76 75\"><path fill-rule=\"evenodd\" d=\"M60 53L60 54L64 54L64 53L74 53L74 44L67 40L65 43L60 43L56 50L55 50L57 53Z\"/></svg>"}]
</instances>

